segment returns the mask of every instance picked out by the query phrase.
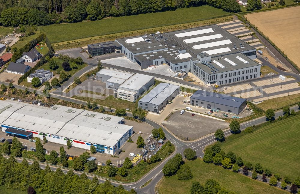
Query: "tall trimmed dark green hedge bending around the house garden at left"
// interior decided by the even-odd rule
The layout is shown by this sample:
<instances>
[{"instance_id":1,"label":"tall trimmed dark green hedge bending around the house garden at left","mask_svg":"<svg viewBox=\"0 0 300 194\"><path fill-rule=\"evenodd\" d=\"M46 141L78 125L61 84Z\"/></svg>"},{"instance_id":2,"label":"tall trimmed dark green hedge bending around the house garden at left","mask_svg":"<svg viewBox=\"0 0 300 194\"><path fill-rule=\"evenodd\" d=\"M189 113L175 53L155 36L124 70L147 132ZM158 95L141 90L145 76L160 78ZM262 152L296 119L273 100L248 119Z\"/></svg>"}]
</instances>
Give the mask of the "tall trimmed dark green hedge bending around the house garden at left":
<instances>
[{"instance_id":1,"label":"tall trimmed dark green hedge bending around the house garden at left","mask_svg":"<svg viewBox=\"0 0 300 194\"><path fill-rule=\"evenodd\" d=\"M41 42L42 40L45 40L45 43L47 45L47 47L49 48L49 51L46 53L46 55L44 55L40 61L38 61L38 63L31 68L28 72L24 73L24 75L22 75L19 80L18 80L18 84L20 84L21 82L24 81L24 79L26 79L30 73L35 72L35 70L37 70L39 67L41 67L43 64L45 64L47 62L46 57L49 56L49 58L53 57L53 48L50 44L50 41L48 40L48 38L46 37L46 34L40 34L36 39L31 40L28 44L26 44L23 48L19 49L17 52L21 53L21 56L19 57L19 53L16 54L15 57L17 57L18 59L22 57L22 53L23 52L28 52L29 50L33 49L35 47L35 45L39 42ZM22 51L22 52L21 52ZM15 52L16 53L16 52ZM13 56L15 55L15 53L13 54ZM16 59L15 59L16 60Z\"/></svg>"}]
</instances>

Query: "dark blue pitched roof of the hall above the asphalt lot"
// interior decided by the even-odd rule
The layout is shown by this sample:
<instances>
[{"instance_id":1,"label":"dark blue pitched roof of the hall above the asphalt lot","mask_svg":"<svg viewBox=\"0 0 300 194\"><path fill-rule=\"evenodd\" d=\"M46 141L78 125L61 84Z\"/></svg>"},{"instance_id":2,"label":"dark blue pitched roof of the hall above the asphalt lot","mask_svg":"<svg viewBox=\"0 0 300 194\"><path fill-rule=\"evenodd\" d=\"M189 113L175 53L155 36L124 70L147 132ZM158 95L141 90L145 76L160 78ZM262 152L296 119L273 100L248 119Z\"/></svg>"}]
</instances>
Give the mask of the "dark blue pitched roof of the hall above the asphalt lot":
<instances>
[{"instance_id":1,"label":"dark blue pitched roof of the hall above the asphalt lot","mask_svg":"<svg viewBox=\"0 0 300 194\"><path fill-rule=\"evenodd\" d=\"M242 105L242 103L244 103L247 100L205 90L197 90L190 98L236 108L239 108Z\"/></svg>"}]
</instances>

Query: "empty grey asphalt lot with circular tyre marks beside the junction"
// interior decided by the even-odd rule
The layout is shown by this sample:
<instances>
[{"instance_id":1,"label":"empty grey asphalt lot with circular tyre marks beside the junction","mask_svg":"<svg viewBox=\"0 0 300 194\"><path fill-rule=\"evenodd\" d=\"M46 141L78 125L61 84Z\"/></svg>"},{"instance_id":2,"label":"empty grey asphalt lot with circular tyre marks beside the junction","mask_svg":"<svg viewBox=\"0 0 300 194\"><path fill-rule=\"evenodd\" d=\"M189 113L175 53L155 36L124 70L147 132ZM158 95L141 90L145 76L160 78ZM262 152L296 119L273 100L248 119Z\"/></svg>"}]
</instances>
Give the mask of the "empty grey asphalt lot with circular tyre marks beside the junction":
<instances>
[{"instance_id":1,"label":"empty grey asphalt lot with circular tyre marks beside the junction","mask_svg":"<svg viewBox=\"0 0 300 194\"><path fill-rule=\"evenodd\" d=\"M219 121L214 118L194 115L190 112L184 112L180 115L180 110L175 111L173 115L162 124L172 133L183 140L192 141L214 133L217 129L226 129L229 123Z\"/></svg>"}]
</instances>

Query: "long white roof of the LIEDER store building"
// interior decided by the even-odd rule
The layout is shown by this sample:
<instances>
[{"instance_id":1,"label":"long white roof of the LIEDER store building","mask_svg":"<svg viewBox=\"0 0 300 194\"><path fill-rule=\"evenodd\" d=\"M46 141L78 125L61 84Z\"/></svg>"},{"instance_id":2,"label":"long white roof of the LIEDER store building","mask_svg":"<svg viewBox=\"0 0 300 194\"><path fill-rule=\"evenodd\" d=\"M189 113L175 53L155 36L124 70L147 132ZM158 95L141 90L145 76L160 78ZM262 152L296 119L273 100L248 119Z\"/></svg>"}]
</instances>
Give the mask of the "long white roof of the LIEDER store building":
<instances>
[{"instance_id":1,"label":"long white roof of the LIEDER store building","mask_svg":"<svg viewBox=\"0 0 300 194\"><path fill-rule=\"evenodd\" d=\"M0 122L26 130L49 133L90 143L114 146L132 126L124 118L54 105L51 108L12 100L0 101Z\"/></svg>"}]
</instances>

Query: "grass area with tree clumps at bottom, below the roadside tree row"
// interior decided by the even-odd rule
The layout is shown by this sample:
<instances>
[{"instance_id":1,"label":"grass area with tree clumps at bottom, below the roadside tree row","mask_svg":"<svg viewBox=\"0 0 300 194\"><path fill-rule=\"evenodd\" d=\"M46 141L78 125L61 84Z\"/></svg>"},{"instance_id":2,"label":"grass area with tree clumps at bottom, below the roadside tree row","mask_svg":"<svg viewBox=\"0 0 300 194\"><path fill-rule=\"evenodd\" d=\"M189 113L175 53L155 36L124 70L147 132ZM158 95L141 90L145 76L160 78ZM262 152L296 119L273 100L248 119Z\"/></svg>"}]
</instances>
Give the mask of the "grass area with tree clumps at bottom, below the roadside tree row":
<instances>
[{"instance_id":1,"label":"grass area with tree clumps at bottom, below the roadside tree row","mask_svg":"<svg viewBox=\"0 0 300 194\"><path fill-rule=\"evenodd\" d=\"M190 187L193 181L198 181L203 186L206 179L216 180L222 188L234 191L240 194L280 194L286 193L276 187L248 178L240 173L223 169L221 166L204 163L202 159L185 162L192 170L193 178L190 180L178 180L177 175L169 178L163 178L158 184L158 193L160 194L182 194L190 193Z\"/></svg>"}]
</instances>

